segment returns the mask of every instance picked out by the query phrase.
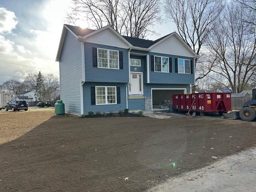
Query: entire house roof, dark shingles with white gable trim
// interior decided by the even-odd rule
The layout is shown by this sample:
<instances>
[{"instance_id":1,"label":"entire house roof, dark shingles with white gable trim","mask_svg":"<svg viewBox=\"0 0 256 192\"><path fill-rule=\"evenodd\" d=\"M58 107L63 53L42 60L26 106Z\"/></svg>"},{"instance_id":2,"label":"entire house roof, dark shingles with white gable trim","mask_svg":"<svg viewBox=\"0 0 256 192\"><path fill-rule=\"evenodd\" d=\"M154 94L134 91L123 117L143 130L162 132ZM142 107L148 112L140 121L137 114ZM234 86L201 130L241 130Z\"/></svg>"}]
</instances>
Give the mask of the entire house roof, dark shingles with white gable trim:
<instances>
[{"instance_id":1,"label":"entire house roof, dark shingles with white gable trim","mask_svg":"<svg viewBox=\"0 0 256 192\"><path fill-rule=\"evenodd\" d=\"M194 50L192 50L192 48L186 44L186 42L184 42L184 40L176 33L176 32L172 32L166 36L163 36L161 38L158 38L156 40L146 40L146 39L141 39L141 38L134 38L134 37L129 37L129 36L124 36L124 35L120 35L118 32L116 32L116 30L114 30L111 26L107 25L104 26L100 29L97 30L93 30L93 29L89 29L89 28L80 28L79 26L72 26L72 25L68 25L68 24L64 24L63 26L63 30L62 30L62 36L60 39L60 45L58 48L58 53L57 53L57 57L56 57L56 61L59 61L60 59L60 53L62 50L62 46L64 43L64 38L66 35L66 30L69 30L74 36L76 36L76 38L79 39L85 39L86 37L92 36L102 30L105 30L106 28L110 29L114 34L116 34L116 36L118 36L120 39L122 39L124 42L126 42L126 44L128 44L130 47L134 47L134 48L144 48L148 49L148 51L150 51L150 49L154 46L156 46L158 43L164 41L165 39L175 35L178 40L180 40L180 42L186 47L188 48L188 50L190 50L190 52L192 52L192 54L197 57L198 55L194 52Z\"/></svg>"}]
</instances>

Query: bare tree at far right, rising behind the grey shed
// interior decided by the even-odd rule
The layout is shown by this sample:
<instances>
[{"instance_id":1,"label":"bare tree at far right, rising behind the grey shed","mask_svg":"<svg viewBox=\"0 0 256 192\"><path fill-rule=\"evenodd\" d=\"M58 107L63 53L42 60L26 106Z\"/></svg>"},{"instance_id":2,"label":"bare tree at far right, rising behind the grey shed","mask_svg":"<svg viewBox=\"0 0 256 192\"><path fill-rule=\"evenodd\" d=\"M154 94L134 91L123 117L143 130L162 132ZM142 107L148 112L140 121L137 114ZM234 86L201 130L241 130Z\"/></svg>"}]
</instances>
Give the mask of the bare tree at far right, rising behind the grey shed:
<instances>
[{"instance_id":1,"label":"bare tree at far right, rising behind the grey shed","mask_svg":"<svg viewBox=\"0 0 256 192\"><path fill-rule=\"evenodd\" d=\"M248 33L245 22L238 20L246 9L228 6L207 41L210 56L216 58L212 71L217 82L241 92L256 72L256 34Z\"/></svg>"}]
</instances>

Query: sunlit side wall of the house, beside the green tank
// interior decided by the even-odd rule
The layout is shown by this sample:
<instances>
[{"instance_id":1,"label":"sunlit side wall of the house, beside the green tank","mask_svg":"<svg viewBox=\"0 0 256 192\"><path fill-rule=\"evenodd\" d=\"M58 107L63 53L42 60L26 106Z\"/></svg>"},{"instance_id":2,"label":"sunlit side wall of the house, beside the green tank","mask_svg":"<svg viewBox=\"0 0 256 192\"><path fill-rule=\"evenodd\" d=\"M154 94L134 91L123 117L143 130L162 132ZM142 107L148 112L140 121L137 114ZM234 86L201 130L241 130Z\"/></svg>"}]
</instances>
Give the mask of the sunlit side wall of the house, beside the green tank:
<instances>
[{"instance_id":1,"label":"sunlit side wall of the house, beside the green tank","mask_svg":"<svg viewBox=\"0 0 256 192\"><path fill-rule=\"evenodd\" d=\"M81 114L82 45L67 30L60 55L60 97L65 112Z\"/></svg>"}]
</instances>

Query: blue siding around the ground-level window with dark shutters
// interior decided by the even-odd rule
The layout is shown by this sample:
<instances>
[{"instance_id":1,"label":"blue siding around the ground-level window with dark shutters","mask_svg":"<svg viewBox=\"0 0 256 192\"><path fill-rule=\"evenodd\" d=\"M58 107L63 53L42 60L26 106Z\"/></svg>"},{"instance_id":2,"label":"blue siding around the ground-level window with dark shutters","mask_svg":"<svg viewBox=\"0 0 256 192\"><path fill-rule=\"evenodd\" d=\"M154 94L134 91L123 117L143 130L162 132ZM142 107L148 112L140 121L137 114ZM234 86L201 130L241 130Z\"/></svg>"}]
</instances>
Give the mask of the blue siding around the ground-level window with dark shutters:
<instances>
[{"instance_id":1,"label":"blue siding around the ground-level window with dark shutters","mask_svg":"<svg viewBox=\"0 0 256 192\"><path fill-rule=\"evenodd\" d=\"M84 92L84 114L93 112L118 112L126 108L126 83L86 82ZM91 105L91 86L117 86L120 87L120 104Z\"/></svg>"}]
</instances>

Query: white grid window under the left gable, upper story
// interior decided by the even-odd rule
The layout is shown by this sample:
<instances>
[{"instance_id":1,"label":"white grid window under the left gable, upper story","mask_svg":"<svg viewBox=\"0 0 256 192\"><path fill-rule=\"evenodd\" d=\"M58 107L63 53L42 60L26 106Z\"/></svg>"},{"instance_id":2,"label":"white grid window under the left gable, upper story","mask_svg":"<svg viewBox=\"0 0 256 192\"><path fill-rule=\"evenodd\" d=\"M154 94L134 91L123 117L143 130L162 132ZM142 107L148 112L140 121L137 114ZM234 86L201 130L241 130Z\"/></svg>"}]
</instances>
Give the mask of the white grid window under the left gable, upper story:
<instances>
[{"instance_id":1,"label":"white grid window under the left gable, upper story","mask_svg":"<svg viewBox=\"0 0 256 192\"><path fill-rule=\"evenodd\" d=\"M99 68L119 68L118 51L98 48L98 67Z\"/></svg>"}]
</instances>

